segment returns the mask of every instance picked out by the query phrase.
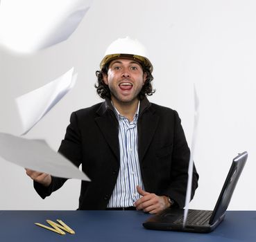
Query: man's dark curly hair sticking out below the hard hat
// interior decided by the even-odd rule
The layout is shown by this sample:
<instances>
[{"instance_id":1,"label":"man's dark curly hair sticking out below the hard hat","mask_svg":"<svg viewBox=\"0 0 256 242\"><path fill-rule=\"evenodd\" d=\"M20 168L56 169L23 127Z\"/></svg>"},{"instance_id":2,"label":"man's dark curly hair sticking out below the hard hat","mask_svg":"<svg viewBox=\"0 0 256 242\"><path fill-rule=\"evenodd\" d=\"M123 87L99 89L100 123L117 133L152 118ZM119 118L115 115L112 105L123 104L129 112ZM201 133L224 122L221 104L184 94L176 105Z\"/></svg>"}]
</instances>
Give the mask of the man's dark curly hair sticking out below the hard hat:
<instances>
[{"instance_id":1,"label":"man's dark curly hair sticking out below the hard hat","mask_svg":"<svg viewBox=\"0 0 256 242\"><path fill-rule=\"evenodd\" d=\"M96 71L95 73L98 79L98 83L95 84L94 86L96 88L96 92L103 99L105 99L106 97L108 98L111 97L110 89L108 85L106 85L105 82L103 81L103 73L108 75L109 64L110 63L105 64L105 66L101 68L101 71ZM153 93L155 93L155 89L153 89L153 86L151 84L154 77L149 71L148 66L145 66L144 64L141 64L141 65L142 65L143 73L146 73L146 82L142 86L142 90L139 93L139 100L143 100L146 95L153 95Z\"/></svg>"}]
</instances>

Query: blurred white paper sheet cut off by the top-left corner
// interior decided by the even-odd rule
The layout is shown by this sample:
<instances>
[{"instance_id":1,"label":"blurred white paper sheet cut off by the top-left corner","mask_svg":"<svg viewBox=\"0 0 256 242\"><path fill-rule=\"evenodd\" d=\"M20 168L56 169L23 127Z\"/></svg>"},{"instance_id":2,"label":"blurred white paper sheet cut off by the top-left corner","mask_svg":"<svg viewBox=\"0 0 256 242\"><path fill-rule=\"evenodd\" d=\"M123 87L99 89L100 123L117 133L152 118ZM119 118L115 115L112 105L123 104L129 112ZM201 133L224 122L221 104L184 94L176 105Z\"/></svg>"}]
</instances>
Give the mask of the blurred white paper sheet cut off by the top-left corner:
<instances>
[{"instance_id":1,"label":"blurred white paper sheet cut off by the top-left corner","mask_svg":"<svg viewBox=\"0 0 256 242\"><path fill-rule=\"evenodd\" d=\"M65 41L78 27L92 0L2 0L0 44L33 53Z\"/></svg>"}]
</instances>

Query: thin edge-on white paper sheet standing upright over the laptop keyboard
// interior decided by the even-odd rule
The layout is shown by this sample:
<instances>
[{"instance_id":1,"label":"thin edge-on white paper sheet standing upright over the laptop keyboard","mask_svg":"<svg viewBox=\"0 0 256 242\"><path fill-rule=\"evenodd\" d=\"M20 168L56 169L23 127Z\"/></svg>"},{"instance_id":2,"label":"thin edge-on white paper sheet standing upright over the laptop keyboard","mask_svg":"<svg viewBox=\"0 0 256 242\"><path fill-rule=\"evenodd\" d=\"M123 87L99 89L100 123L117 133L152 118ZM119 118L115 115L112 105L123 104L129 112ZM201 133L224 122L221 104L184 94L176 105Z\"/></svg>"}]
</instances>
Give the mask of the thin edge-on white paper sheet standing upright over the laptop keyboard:
<instances>
[{"instance_id":1,"label":"thin edge-on white paper sheet standing upright over the laptop keyboard","mask_svg":"<svg viewBox=\"0 0 256 242\"><path fill-rule=\"evenodd\" d=\"M185 200L183 227L185 227L187 222L187 214L189 212L189 202L191 198L191 187L192 187L193 165L194 165L193 158L194 158L196 137L197 137L197 131L198 131L198 120L199 120L199 99L196 93L196 86L194 86L194 130L193 130L191 149L190 149L189 169L187 171L189 178L187 180L187 193L186 193L186 200Z\"/></svg>"}]
</instances>

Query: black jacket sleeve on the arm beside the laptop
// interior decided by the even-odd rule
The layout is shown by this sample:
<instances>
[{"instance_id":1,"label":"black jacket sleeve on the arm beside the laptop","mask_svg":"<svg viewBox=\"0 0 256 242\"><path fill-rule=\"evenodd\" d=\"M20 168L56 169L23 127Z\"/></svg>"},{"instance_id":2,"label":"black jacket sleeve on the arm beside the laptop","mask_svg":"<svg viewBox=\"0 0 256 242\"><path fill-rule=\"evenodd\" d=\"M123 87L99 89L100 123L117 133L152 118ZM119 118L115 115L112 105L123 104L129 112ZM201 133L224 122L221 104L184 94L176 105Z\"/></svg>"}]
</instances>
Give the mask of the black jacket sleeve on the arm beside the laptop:
<instances>
[{"instance_id":1,"label":"black jacket sleeve on the arm beside the laptop","mask_svg":"<svg viewBox=\"0 0 256 242\"><path fill-rule=\"evenodd\" d=\"M185 197L187 192L188 167L190 151L182 129L178 113L174 111L175 125L173 129L173 153L171 158L171 183L167 194L178 203L179 207L185 206ZM194 165L193 165L194 166ZM194 166L192 175L191 198L194 197L198 187L198 173Z\"/></svg>"}]
</instances>

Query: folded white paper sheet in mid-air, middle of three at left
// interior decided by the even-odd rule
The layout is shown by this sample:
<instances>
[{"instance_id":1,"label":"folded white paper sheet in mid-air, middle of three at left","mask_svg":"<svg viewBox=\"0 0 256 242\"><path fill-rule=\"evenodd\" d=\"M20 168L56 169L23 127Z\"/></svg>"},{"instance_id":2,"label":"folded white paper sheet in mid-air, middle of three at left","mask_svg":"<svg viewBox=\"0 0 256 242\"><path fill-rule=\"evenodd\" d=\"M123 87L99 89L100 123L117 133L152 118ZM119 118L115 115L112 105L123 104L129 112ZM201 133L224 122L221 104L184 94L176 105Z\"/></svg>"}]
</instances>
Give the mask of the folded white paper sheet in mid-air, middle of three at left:
<instances>
[{"instance_id":1,"label":"folded white paper sheet in mid-air, middle of three at left","mask_svg":"<svg viewBox=\"0 0 256 242\"><path fill-rule=\"evenodd\" d=\"M23 125L22 135L28 133L76 83L74 68L48 84L15 99Z\"/></svg>"}]
</instances>

